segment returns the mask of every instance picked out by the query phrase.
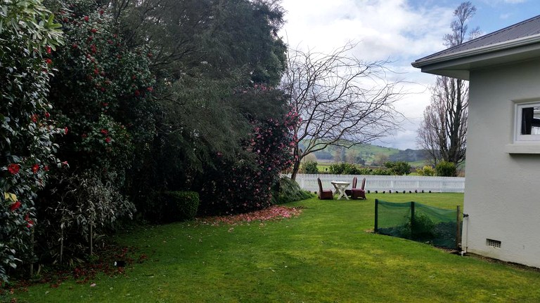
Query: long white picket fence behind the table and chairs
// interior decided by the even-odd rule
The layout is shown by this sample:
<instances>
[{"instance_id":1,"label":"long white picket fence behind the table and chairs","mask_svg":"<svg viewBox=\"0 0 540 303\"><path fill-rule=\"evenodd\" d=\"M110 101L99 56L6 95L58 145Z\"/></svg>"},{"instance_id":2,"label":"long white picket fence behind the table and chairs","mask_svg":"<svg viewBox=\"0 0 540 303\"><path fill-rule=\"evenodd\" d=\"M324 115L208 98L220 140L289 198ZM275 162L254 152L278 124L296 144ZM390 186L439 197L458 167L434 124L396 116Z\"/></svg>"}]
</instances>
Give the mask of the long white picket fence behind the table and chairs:
<instances>
[{"instance_id":1,"label":"long white picket fence behind the table and chairs","mask_svg":"<svg viewBox=\"0 0 540 303\"><path fill-rule=\"evenodd\" d=\"M290 175L288 175L290 177ZM423 177L423 176L383 176L383 175L329 175L329 174L298 174L296 182L307 191L318 191L317 178L321 178L323 189L333 189L331 181L352 182L358 177L358 186L366 178L366 191L425 191L425 192L463 192L465 191L464 177ZM350 188L350 187L349 187Z\"/></svg>"}]
</instances>

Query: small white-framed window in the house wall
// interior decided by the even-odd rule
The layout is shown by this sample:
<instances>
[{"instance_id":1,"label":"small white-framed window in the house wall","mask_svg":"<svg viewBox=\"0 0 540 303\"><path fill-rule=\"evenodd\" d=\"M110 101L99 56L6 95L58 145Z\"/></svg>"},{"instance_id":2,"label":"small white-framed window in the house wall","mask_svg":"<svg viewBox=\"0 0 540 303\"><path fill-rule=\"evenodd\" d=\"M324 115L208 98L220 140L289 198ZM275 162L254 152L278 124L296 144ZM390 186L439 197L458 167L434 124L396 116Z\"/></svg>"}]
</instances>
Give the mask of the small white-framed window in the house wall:
<instances>
[{"instance_id":1,"label":"small white-framed window in the house wall","mask_svg":"<svg viewBox=\"0 0 540 303\"><path fill-rule=\"evenodd\" d=\"M517 104L515 141L540 141L540 102Z\"/></svg>"}]
</instances>

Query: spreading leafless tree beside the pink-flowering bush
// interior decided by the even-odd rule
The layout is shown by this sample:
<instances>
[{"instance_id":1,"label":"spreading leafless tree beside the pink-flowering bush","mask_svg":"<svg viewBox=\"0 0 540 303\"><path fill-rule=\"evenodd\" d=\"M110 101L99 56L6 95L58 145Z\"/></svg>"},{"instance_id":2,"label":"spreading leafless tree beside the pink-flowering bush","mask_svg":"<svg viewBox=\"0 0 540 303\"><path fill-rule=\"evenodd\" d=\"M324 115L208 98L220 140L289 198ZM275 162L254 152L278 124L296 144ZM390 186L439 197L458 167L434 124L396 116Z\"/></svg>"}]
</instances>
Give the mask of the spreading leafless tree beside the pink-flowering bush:
<instances>
[{"instance_id":1,"label":"spreading leafless tree beside the pink-flowering bush","mask_svg":"<svg viewBox=\"0 0 540 303\"><path fill-rule=\"evenodd\" d=\"M295 127L295 179L304 156L333 145L349 148L398 128L399 82L385 79L386 61L364 62L350 55L355 43L332 52L288 51L281 88L302 121ZM300 149L302 142L304 149Z\"/></svg>"}]
</instances>

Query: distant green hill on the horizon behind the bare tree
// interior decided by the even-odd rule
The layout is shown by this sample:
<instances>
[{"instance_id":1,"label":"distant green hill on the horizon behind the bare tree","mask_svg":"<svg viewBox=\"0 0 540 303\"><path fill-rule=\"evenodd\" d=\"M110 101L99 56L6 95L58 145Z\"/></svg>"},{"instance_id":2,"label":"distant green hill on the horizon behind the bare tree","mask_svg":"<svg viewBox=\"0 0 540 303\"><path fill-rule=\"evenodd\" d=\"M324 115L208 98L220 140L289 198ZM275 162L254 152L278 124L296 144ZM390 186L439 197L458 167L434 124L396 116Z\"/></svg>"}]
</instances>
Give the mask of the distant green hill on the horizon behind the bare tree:
<instances>
[{"instance_id":1,"label":"distant green hill on the horizon behind the bare tree","mask_svg":"<svg viewBox=\"0 0 540 303\"><path fill-rule=\"evenodd\" d=\"M300 148L304 144L300 142ZM394 149L392 147L380 147L371 144L359 144L346 149L345 147L327 147L314 155L318 162L347 162L362 165L373 165L380 161L406 161L412 166L423 166L428 161L425 150L417 149Z\"/></svg>"}]
</instances>

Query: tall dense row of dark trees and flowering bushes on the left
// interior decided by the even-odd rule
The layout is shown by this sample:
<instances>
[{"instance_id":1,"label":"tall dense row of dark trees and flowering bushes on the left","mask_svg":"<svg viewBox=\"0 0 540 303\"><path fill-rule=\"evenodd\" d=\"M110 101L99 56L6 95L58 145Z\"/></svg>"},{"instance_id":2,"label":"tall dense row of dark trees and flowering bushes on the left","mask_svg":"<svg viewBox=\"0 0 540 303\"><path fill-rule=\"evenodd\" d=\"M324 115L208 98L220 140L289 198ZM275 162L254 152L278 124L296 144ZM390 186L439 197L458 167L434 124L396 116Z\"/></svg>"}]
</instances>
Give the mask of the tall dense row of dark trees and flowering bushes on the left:
<instances>
[{"instance_id":1,"label":"tall dense row of dark trees and flowering bushes on the left","mask_svg":"<svg viewBox=\"0 0 540 303\"><path fill-rule=\"evenodd\" d=\"M128 217L273 203L297 123L274 89L286 51L276 1L28 0L0 12L4 281L84 260Z\"/></svg>"}]
</instances>

